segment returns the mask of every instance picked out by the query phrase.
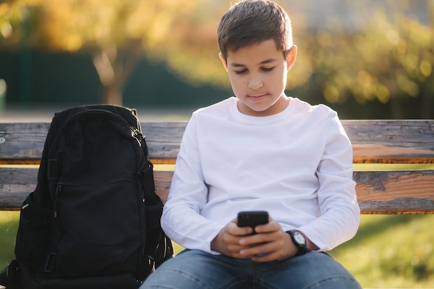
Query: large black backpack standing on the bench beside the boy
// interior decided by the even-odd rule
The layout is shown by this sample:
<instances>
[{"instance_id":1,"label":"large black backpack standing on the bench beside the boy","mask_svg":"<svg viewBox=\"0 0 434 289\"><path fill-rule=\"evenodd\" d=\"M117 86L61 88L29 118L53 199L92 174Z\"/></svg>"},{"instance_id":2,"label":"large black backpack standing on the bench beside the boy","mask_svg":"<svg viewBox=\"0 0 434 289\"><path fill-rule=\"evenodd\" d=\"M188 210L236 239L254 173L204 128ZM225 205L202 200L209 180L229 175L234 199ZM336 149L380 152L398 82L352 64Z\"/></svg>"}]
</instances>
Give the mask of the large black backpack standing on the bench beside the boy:
<instances>
[{"instance_id":1,"label":"large black backpack standing on the bench beside the boy","mask_svg":"<svg viewBox=\"0 0 434 289\"><path fill-rule=\"evenodd\" d=\"M138 288L173 256L135 110L55 114L35 191L21 208L7 289Z\"/></svg>"}]
</instances>

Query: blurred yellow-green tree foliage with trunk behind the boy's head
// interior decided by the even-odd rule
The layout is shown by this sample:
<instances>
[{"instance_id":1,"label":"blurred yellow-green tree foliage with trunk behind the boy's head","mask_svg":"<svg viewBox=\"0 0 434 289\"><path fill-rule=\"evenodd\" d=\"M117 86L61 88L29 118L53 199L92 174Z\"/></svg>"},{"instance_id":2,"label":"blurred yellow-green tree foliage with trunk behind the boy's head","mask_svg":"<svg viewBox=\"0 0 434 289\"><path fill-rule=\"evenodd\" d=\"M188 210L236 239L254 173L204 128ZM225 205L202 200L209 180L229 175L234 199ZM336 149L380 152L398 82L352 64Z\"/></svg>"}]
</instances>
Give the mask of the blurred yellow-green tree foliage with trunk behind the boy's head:
<instances>
[{"instance_id":1,"label":"blurred yellow-green tree foliage with trunk behind the boy's head","mask_svg":"<svg viewBox=\"0 0 434 289\"><path fill-rule=\"evenodd\" d=\"M103 102L122 102L140 58L165 62L193 85L229 88L217 56L216 26L230 3L3 1L0 49L22 50L28 42L33 49L89 53L105 88ZM390 103L395 119L406 116L408 99L417 99L413 110L419 117L434 117L433 1L277 3L288 10L299 47L288 90L337 105Z\"/></svg>"}]
</instances>

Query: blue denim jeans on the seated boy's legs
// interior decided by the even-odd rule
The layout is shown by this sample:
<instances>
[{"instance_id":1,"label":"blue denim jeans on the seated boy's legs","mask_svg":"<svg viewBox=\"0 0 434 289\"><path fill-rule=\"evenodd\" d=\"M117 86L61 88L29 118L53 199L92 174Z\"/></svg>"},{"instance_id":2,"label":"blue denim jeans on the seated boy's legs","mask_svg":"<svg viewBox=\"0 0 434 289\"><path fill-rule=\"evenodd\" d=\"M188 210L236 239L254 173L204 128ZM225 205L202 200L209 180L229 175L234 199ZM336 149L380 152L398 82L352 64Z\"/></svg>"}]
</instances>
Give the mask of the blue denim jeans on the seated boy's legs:
<instances>
[{"instance_id":1,"label":"blue denim jeans on the seated boy's legs","mask_svg":"<svg viewBox=\"0 0 434 289\"><path fill-rule=\"evenodd\" d=\"M140 289L361 289L329 254L309 252L284 261L257 263L184 250L150 274Z\"/></svg>"}]
</instances>

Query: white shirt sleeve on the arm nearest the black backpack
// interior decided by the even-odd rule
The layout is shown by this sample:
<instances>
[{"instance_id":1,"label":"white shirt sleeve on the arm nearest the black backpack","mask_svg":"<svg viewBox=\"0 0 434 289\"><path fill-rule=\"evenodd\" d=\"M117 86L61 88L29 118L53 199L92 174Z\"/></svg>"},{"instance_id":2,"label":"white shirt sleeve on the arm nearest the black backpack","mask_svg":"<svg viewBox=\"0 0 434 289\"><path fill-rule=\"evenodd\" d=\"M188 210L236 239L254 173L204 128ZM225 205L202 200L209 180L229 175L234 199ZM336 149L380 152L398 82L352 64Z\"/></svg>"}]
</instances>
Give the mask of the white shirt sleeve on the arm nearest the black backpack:
<instances>
[{"instance_id":1,"label":"white shirt sleeve on the arm nearest the black backpack","mask_svg":"<svg viewBox=\"0 0 434 289\"><path fill-rule=\"evenodd\" d=\"M208 189L200 164L197 137L193 114L177 155L171 189L164 204L162 228L169 238L184 248L220 254L212 251L210 246L223 226L200 216L207 202Z\"/></svg>"}]
</instances>

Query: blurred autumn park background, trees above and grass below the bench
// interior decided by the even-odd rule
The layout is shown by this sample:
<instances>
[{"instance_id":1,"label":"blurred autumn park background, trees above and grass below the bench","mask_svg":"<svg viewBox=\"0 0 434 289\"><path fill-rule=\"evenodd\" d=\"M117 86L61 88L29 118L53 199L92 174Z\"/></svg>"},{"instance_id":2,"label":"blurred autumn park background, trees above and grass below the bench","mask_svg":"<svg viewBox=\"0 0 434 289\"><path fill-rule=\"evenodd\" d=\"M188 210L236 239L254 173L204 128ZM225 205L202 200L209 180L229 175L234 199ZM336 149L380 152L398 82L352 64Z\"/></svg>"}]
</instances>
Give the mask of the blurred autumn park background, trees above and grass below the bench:
<instances>
[{"instance_id":1,"label":"blurred autumn park background, trees above and grass below the bench","mask_svg":"<svg viewBox=\"0 0 434 289\"><path fill-rule=\"evenodd\" d=\"M277 0L298 46L286 94L341 119L434 118L433 0ZM0 0L0 119L73 105L189 119L232 96L216 26L229 0ZM22 119L17 119L17 116ZM432 168L432 166L431 166ZM17 212L0 212L0 269ZM434 288L433 216L362 216L333 250L364 287Z\"/></svg>"}]
</instances>

